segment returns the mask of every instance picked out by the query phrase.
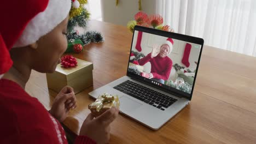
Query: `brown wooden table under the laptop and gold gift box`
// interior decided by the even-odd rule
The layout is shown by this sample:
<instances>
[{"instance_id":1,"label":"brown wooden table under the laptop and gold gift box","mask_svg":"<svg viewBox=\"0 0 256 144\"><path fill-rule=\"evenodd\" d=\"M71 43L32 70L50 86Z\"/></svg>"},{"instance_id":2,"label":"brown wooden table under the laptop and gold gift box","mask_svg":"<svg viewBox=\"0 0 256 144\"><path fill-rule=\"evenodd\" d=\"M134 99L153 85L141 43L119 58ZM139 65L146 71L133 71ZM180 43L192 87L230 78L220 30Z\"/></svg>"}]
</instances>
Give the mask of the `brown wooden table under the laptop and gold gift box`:
<instances>
[{"instance_id":1,"label":"brown wooden table under the laptop and gold gift box","mask_svg":"<svg viewBox=\"0 0 256 144\"><path fill-rule=\"evenodd\" d=\"M88 93L126 74L132 34L126 27L90 21L102 44L89 44L75 57L94 63L94 86L76 95L77 109L63 122L73 133L90 113ZM203 47L191 103L153 131L119 115L109 143L256 143L256 58ZM48 90L45 74L32 72L26 91L50 109L57 93Z\"/></svg>"}]
</instances>

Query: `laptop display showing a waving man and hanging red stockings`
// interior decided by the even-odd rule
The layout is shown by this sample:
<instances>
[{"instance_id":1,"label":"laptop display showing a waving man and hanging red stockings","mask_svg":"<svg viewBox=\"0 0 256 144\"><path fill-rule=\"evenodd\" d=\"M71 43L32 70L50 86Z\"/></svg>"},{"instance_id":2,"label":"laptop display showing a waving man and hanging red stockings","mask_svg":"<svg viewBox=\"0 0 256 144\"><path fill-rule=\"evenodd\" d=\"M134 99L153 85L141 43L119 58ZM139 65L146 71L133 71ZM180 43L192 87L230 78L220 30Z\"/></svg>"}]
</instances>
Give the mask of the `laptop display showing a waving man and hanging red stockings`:
<instances>
[{"instance_id":1,"label":"laptop display showing a waving man and hanging red stockings","mask_svg":"<svg viewBox=\"0 0 256 144\"><path fill-rule=\"evenodd\" d=\"M135 30L128 72L153 85L191 95L201 44Z\"/></svg>"}]
</instances>

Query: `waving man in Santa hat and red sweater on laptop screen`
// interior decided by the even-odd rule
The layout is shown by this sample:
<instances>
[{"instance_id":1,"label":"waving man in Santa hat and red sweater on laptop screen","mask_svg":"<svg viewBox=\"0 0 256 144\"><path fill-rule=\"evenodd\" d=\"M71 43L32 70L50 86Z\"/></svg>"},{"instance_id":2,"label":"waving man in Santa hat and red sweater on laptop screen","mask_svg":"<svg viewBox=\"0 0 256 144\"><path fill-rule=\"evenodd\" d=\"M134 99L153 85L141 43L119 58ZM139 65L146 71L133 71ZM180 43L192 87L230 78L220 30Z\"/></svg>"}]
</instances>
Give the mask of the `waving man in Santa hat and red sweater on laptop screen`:
<instances>
[{"instance_id":1,"label":"waving man in Santa hat and red sweater on laptop screen","mask_svg":"<svg viewBox=\"0 0 256 144\"><path fill-rule=\"evenodd\" d=\"M159 83L164 84L165 80L169 79L172 60L167 57L172 51L173 40L171 38L166 39L166 42L160 47L154 45L152 52L146 57L139 59L139 65L144 65L147 62L151 64L151 70L148 79L152 79Z\"/></svg>"}]
</instances>

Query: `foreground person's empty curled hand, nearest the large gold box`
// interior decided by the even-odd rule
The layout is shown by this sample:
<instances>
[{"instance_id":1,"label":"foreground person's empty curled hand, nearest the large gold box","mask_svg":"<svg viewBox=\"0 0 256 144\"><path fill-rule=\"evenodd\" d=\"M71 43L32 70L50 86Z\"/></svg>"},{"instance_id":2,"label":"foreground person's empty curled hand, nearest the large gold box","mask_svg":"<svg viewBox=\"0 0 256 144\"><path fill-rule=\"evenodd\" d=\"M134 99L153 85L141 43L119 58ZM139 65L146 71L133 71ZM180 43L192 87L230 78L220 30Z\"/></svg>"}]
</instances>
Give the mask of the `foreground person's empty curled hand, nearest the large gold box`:
<instances>
[{"instance_id":1,"label":"foreground person's empty curled hand, nearest the large gold box","mask_svg":"<svg viewBox=\"0 0 256 144\"><path fill-rule=\"evenodd\" d=\"M49 111L53 117L63 122L70 109L77 107L77 99L75 98L72 87L65 86L54 99L53 106Z\"/></svg>"}]
</instances>

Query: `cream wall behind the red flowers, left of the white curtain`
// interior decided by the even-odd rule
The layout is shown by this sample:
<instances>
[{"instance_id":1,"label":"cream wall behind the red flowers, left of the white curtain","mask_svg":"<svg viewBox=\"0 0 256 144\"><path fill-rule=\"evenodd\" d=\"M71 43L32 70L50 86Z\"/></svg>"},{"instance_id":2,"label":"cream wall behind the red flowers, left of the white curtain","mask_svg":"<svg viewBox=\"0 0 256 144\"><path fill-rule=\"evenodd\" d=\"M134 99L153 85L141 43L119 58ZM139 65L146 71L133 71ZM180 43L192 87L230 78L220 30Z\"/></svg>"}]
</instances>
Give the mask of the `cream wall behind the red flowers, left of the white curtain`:
<instances>
[{"instance_id":1,"label":"cream wall behind the red flowers, left of the white curtain","mask_svg":"<svg viewBox=\"0 0 256 144\"><path fill-rule=\"evenodd\" d=\"M134 20L134 15L138 13L138 0L101 0L102 20L105 22L115 23L116 25L126 26L127 22ZM155 13L156 0L142 1L142 11L147 14Z\"/></svg>"}]
</instances>

